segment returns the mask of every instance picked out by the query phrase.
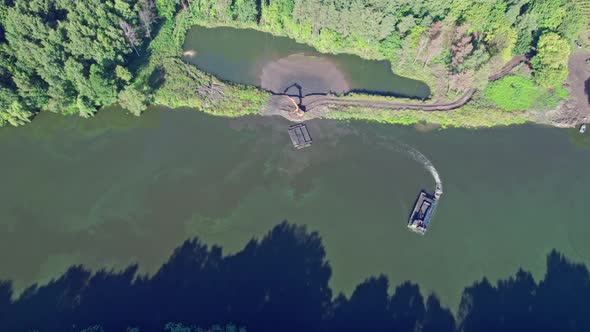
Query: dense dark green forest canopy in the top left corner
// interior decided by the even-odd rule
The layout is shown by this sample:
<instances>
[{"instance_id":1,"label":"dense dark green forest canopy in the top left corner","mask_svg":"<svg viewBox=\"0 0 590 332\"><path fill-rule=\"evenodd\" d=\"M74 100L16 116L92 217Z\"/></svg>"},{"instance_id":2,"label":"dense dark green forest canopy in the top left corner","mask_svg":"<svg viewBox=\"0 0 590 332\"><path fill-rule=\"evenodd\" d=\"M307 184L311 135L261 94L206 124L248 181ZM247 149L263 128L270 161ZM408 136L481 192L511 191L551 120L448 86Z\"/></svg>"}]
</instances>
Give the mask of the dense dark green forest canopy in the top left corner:
<instances>
[{"instance_id":1,"label":"dense dark green forest canopy in the top left corner","mask_svg":"<svg viewBox=\"0 0 590 332\"><path fill-rule=\"evenodd\" d=\"M125 68L130 43L137 46L137 35L142 35L132 31L138 25L135 2L30 0L2 5L6 41L0 67L20 105L11 112L47 109L89 116L116 102L118 91L131 79ZM127 34L121 22L131 27Z\"/></svg>"}]
</instances>

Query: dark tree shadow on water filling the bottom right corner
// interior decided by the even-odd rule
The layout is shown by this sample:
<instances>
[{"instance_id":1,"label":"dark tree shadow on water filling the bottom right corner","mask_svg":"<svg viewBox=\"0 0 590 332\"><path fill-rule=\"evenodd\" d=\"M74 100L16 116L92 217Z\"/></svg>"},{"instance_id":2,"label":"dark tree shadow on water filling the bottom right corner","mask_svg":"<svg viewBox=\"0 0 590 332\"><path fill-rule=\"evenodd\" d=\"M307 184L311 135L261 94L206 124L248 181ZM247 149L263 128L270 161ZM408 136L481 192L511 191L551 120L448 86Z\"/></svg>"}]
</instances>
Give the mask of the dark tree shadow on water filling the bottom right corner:
<instances>
[{"instance_id":1,"label":"dark tree shadow on water filling the bottom right corner","mask_svg":"<svg viewBox=\"0 0 590 332\"><path fill-rule=\"evenodd\" d=\"M484 279L463 292L460 331L590 331L590 278L583 264L556 251L538 284L529 272L492 286Z\"/></svg>"}]
</instances>

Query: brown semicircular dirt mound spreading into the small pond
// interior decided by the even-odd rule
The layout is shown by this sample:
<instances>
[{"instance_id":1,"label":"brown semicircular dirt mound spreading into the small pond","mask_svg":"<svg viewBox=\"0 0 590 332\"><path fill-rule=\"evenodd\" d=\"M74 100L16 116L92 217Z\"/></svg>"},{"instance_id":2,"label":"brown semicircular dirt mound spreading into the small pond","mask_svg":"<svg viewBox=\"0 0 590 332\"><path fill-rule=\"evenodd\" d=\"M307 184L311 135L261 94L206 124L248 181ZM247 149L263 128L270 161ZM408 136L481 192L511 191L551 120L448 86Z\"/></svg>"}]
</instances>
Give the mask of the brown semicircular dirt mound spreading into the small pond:
<instances>
[{"instance_id":1,"label":"brown semicircular dirt mound spreading into the small pond","mask_svg":"<svg viewBox=\"0 0 590 332\"><path fill-rule=\"evenodd\" d=\"M312 93L343 93L350 90L338 66L326 58L293 54L262 68L260 86L275 93L303 96Z\"/></svg>"}]
</instances>

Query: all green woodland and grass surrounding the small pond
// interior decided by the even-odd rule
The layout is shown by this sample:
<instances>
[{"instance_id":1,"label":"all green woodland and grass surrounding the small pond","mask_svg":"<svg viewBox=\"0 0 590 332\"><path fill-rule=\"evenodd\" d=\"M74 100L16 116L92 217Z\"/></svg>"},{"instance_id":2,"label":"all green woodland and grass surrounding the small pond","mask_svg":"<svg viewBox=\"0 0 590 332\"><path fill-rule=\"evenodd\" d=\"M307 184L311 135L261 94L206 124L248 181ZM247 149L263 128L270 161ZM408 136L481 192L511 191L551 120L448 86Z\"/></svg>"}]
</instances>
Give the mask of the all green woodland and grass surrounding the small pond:
<instances>
[{"instance_id":1,"label":"all green woodland and grass surrounding the small pond","mask_svg":"<svg viewBox=\"0 0 590 332\"><path fill-rule=\"evenodd\" d=\"M435 101L476 87L465 116L551 109L568 96L567 59L586 19L571 0L0 0L0 125L39 111L91 116L114 103L136 115L150 103L257 113L266 92L182 62L195 24L386 59L427 82ZM528 64L489 84L518 55Z\"/></svg>"}]
</instances>

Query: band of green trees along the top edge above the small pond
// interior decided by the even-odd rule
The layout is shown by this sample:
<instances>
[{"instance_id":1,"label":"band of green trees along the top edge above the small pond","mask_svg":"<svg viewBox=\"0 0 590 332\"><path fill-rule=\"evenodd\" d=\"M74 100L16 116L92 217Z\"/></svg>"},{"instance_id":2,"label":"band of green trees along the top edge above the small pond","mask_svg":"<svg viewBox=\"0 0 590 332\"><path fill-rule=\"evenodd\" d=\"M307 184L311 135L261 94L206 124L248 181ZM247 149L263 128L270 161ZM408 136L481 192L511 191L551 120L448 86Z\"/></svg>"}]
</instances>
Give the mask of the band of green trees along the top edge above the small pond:
<instances>
[{"instance_id":1,"label":"band of green trees along the top edge above the small pond","mask_svg":"<svg viewBox=\"0 0 590 332\"><path fill-rule=\"evenodd\" d=\"M572 0L264 0L258 2L260 8L254 0L192 3L195 17L224 24L229 16L249 24L259 17L264 30L303 39L324 51L354 50L389 59L396 59L398 49L406 44L411 46L403 51L406 56L420 55L423 49L419 48L429 41L406 43L416 36L414 28L427 29L444 21L447 50L451 51L452 27L463 26L473 37L473 50L480 52L463 70L480 67L495 55L508 61L512 55L528 53L548 30L571 41L585 22ZM226 12L231 15L220 14Z\"/></svg>"}]
</instances>

